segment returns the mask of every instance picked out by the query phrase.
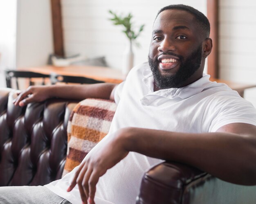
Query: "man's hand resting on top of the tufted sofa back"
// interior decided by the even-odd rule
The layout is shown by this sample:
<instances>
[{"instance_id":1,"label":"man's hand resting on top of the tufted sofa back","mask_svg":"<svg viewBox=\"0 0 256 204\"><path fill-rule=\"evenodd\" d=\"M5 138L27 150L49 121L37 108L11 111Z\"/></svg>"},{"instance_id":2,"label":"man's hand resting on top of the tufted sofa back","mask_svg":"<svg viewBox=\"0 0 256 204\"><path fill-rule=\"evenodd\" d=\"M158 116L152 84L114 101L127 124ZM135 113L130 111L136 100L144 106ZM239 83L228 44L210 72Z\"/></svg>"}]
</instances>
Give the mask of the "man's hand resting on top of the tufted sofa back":
<instances>
[{"instance_id":1,"label":"man's hand resting on top of the tufted sofa back","mask_svg":"<svg viewBox=\"0 0 256 204\"><path fill-rule=\"evenodd\" d=\"M50 86L29 86L13 100L14 105L24 106L31 102L45 101L50 98Z\"/></svg>"}]
</instances>

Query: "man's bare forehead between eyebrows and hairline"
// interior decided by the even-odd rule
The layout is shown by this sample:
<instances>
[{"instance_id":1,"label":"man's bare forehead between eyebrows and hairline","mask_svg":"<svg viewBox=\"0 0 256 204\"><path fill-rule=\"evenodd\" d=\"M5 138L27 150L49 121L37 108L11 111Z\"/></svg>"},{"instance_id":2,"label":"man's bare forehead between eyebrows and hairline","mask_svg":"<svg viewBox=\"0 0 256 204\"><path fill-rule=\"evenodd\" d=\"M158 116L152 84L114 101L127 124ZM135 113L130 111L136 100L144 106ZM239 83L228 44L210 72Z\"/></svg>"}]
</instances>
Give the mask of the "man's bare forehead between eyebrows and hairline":
<instances>
[{"instance_id":1,"label":"man's bare forehead between eyebrows and hairline","mask_svg":"<svg viewBox=\"0 0 256 204\"><path fill-rule=\"evenodd\" d=\"M159 13L155 19L154 26L161 26L162 24L187 24L190 26L196 26L195 16L191 13L183 10L168 9Z\"/></svg>"}]
</instances>

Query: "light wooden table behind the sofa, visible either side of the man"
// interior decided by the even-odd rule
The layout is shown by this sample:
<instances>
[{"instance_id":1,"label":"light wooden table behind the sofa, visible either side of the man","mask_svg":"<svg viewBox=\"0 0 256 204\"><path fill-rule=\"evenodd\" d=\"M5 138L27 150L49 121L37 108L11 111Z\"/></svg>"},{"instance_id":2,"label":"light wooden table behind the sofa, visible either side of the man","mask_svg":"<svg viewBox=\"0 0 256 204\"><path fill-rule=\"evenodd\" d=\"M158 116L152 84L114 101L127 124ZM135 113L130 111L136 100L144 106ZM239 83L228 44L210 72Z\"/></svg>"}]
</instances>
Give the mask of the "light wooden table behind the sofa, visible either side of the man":
<instances>
[{"instance_id":1,"label":"light wooden table behind the sofa, visible either side of the man","mask_svg":"<svg viewBox=\"0 0 256 204\"><path fill-rule=\"evenodd\" d=\"M49 75L51 72L55 72L60 75L88 77L95 80L106 81L110 83L121 83L126 78L126 75L122 74L120 70L99 66L40 66L31 68L18 68L18 70L39 72L47 75ZM226 83L231 89L236 90L241 97L244 96L245 89L256 87L256 84L252 85L235 83L215 78L210 78L210 80L216 81L218 83Z\"/></svg>"}]
</instances>

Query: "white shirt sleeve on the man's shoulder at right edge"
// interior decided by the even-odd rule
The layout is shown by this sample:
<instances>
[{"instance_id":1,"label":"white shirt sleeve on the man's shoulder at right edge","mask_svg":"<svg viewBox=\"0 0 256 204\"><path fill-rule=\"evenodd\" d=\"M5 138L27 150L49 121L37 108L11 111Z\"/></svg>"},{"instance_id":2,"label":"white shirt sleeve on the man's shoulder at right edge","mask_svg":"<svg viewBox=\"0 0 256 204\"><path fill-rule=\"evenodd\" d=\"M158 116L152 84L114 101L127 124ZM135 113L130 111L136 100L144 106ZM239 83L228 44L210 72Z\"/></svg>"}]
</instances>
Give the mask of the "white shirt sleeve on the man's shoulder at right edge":
<instances>
[{"instance_id":1,"label":"white shirt sleeve on the man's shoulder at right edge","mask_svg":"<svg viewBox=\"0 0 256 204\"><path fill-rule=\"evenodd\" d=\"M206 112L202 119L208 124L208 132L216 132L220 127L231 123L256 125L255 107L241 97L214 97Z\"/></svg>"}]
</instances>

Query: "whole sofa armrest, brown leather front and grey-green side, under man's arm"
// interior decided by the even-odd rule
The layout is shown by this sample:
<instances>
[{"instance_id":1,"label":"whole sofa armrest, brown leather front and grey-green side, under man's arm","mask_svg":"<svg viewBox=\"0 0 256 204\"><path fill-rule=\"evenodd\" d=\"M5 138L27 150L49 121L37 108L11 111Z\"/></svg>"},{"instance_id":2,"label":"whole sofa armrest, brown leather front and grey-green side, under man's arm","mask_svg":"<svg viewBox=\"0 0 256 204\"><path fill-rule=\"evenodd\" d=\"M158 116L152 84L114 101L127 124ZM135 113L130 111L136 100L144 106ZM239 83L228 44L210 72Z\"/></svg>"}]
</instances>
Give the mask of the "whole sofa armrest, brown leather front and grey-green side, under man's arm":
<instances>
[{"instance_id":1,"label":"whole sofa armrest, brown leather front and grey-green side, under man's arm","mask_svg":"<svg viewBox=\"0 0 256 204\"><path fill-rule=\"evenodd\" d=\"M176 162L163 162L144 174L136 204L254 204L256 186L220 180Z\"/></svg>"}]
</instances>

